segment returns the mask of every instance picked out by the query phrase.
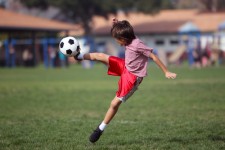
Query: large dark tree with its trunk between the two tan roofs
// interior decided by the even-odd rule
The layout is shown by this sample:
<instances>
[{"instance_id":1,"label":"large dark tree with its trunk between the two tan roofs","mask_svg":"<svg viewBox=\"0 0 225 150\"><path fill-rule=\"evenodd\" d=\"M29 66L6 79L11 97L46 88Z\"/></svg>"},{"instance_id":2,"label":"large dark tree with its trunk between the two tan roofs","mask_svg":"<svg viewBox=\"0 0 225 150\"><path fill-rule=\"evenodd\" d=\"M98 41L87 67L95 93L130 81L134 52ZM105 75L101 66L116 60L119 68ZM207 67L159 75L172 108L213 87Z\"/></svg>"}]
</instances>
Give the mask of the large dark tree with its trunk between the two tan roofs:
<instances>
[{"instance_id":1,"label":"large dark tree with its trunk between the two tan roofs","mask_svg":"<svg viewBox=\"0 0 225 150\"><path fill-rule=\"evenodd\" d=\"M82 25L85 34L91 33L91 22L95 15L107 18L109 13L116 14L118 10L153 14L160 9L172 8L172 3L168 0L21 0L21 2L29 8L58 7L68 20Z\"/></svg>"}]
</instances>

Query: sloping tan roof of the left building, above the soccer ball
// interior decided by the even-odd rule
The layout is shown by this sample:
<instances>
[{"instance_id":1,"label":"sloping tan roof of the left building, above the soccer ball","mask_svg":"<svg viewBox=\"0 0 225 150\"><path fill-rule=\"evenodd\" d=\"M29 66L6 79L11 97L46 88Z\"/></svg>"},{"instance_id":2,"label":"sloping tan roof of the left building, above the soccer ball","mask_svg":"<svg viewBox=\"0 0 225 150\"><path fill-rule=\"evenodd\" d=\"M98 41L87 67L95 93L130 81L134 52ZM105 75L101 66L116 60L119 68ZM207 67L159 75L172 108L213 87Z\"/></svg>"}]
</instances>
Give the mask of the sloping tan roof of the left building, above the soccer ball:
<instances>
[{"instance_id":1,"label":"sloping tan roof of the left building, above the soccer ball","mask_svg":"<svg viewBox=\"0 0 225 150\"><path fill-rule=\"evenodd\" d=\"M79 28L74 24L15 13L0 8L0 31L68 31L78 30Z\"/></svg>"}]
</instances>

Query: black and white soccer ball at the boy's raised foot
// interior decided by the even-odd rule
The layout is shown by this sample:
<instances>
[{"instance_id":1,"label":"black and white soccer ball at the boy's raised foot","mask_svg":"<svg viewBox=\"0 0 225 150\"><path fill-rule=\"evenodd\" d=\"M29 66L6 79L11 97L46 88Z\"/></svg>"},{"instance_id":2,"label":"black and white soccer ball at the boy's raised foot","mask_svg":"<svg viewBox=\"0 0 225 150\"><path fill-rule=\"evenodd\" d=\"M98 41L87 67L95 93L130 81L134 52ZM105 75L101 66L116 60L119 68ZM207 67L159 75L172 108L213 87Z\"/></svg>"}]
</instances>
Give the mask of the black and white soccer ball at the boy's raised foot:
<instances>
[{"instance_id":1,"label":"black and white soccer ball at the boy's raised foot","mask_svg":"<svg viewBox=\"0 0 225 150\"><path fill-rule=\"evenodd\" d=\"M59 43L59 50L68 57L76 56L80 52L80 45L76 38L68 36Z\"/></svg>"}]
</instances>

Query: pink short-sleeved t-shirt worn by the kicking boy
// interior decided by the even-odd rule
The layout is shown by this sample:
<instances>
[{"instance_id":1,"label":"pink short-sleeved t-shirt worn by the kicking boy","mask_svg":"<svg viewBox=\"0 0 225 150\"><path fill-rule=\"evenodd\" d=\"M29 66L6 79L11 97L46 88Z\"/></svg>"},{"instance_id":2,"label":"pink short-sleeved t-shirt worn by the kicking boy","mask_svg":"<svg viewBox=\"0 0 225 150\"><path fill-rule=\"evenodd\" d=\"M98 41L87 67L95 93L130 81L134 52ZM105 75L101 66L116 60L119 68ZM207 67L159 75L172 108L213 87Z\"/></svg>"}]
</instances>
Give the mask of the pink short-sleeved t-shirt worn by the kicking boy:
<instances>
[{"instance_id":1,"label":"pink short-sleeved t-shirt worn by the kicking boy","mask_svg":"<svg viewBox=\"0 0 225 150\"><path fill-rule=\"evenodd\" d=\"M125 48L125 66L128 71L138 77L145 77L147 75L148 58L153 49L147 47L138 38Z\"/></svg>"}]
</instances>

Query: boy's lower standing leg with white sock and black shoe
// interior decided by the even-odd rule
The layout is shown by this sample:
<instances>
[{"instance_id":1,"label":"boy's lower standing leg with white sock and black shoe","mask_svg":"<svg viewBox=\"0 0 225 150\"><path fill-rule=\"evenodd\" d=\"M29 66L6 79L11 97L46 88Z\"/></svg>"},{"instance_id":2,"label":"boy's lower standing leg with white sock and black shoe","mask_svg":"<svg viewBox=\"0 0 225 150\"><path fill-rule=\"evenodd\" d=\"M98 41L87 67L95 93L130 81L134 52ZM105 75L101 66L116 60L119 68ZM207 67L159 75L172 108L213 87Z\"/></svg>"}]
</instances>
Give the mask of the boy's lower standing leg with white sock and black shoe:
<instances>
[{"instance_id":1,"label":"boy's lower standing leg with white sock and black shoe","mask_svg":"<svg viewBox=\"0 0 225 150\"><path fill-rule=\"evenodd\" d=\"M112 100L103 122L94 130L94 132L91 134L91 136L89 138L89 140L92 143L98 141L98 139L102 135L102 132L104 131L104 128L106 127L106 125L110 123L110 121L113 119L113 117L117 113L117 110L121 103L122 103L122 101L120 101L117 97L115 97Z\"/></svg>"}]
</instances>

